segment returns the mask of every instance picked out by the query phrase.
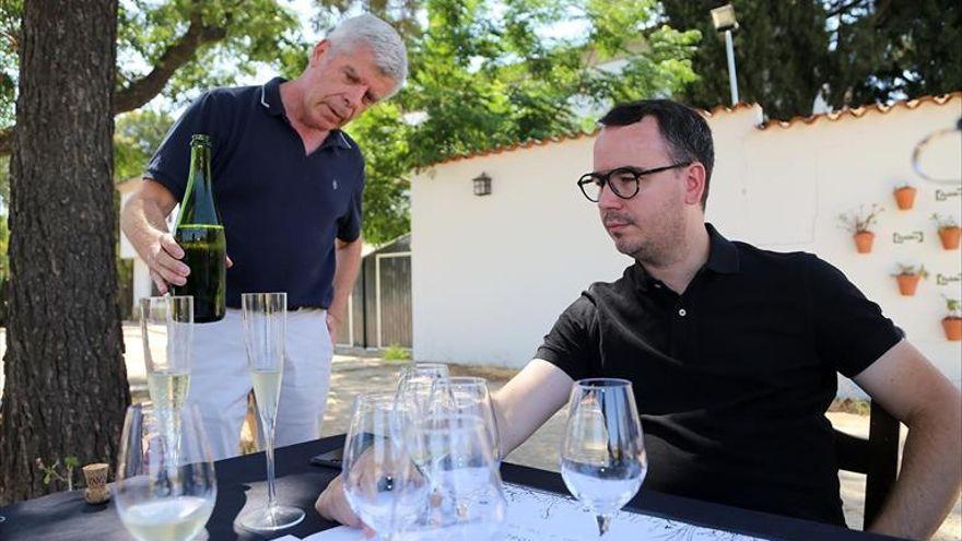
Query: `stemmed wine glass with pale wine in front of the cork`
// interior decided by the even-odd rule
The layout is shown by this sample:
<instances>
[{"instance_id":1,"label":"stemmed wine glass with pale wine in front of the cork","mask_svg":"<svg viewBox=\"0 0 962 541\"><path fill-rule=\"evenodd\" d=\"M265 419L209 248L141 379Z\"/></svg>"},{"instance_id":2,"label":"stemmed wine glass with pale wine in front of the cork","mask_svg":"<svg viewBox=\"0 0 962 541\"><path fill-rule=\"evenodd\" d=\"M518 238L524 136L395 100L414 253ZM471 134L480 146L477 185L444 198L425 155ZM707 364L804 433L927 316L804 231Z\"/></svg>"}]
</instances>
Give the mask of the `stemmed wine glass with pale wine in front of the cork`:
<instances>
[{"instance_id":1,"label":"stemmed wine glass with pale wine in front of the cork","mask_svg":"<svg viewBox=\"0 0 962 541\"><path fill-rule=\"evenodd\" d=\"M169 417L180 430L173 436ZM216 499L211 449L197 407L127 409L114 497L140 541L187 541L201 533Z\"/></svg>"}]
</instances>

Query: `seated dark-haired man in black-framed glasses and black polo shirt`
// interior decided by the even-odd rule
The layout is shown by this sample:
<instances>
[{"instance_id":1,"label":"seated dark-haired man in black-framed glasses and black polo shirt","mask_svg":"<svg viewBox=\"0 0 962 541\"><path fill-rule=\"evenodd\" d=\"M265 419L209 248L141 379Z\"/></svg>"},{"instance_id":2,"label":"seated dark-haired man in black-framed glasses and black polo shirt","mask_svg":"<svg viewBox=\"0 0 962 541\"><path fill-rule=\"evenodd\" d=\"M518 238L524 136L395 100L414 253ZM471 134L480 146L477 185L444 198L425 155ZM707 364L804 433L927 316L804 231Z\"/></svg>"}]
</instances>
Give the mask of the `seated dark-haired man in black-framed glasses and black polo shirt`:
<instances>
[{"instance_id":1,"label":"seated dark-haired man in black-framed glasses and black polo shirt","mask_svg":"<svg viewBox=\"0 0 962 541\"><path fill-rule=\"evenodd\" d=\"M844 526L825 417L841 372L910 428L870 529L931 536L962 478L959 390L831 264L705 223L714 143L696 111L642 101L600 124L595 172L577 185L635 263L588 287L495 393L505 455L565 405L574 380L623 378L645 431L645 487ZM317 507L359 524L339 481Z\"/></svg>"}]
</instances>

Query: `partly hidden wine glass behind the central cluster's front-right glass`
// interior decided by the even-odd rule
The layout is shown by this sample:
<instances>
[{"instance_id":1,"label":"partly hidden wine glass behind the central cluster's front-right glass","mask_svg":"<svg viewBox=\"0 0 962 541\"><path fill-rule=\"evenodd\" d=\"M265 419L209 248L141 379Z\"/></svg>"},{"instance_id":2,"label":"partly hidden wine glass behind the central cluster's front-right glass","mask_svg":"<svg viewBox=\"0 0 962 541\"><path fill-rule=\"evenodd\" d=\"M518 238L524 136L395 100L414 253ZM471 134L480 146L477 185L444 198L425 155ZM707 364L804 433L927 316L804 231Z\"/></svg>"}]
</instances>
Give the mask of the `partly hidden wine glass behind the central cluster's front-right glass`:
<instances>
[{"instance_id":1,"label":"partly hidden wine glass behind the central cluster's front-right glass","mask_svg":"<svg viewBox=\"0 0 962 541\"><path fill-rule=\"evenodd\" d=\"M491 452L501 462L501 437L494 402L483 377L442 377L434 381L431 408L441 408L450 413L476 415L484 423L484 432L491 445Z\"/></svg>"}]
</instances>

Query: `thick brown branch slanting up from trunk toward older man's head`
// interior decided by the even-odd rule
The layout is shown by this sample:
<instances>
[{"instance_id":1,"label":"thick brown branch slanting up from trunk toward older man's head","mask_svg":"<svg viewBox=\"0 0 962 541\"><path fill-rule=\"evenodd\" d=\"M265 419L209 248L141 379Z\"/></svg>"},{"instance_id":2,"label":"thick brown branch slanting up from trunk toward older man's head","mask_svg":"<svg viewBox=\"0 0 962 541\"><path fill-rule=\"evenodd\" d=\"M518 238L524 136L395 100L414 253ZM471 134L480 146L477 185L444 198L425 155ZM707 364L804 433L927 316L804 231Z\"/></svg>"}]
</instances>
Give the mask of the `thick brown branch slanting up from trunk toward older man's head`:
<instances>
[{"instance_id":1,"label":"thick brown branch slanting up from trunk toward older man's head","mask_svg":"<svg viewBox=\"0 0 962 541\"><path fill-rule=\"evenodd\" d=\"M226 36L225 27L204 26L199 13L191 15L187 33L161 55L153 70L114 95L114 114L142 107L164 90L164 85L181 66L193 59L197 49Z\"/></svg>"}]
</instances>

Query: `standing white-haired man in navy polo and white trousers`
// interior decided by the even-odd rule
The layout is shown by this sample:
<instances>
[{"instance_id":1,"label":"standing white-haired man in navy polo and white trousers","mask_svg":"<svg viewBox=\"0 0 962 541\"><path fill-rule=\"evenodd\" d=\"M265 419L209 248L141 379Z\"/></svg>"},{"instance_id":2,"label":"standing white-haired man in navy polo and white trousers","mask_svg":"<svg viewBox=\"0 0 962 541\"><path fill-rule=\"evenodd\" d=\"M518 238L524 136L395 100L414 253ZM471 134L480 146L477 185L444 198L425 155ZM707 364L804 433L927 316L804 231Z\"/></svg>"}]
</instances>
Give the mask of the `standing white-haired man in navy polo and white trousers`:
<instances>
[{"instance_id":1,"label":"standing white-haired man in navy polo and white trousers","mask_svg":"<svg viewBox=\"0 0 962 541\"><path fill-rule=\"evenodd\" d=\"M213 140L214 197L230 269L226 316L197 325L189 401L237 454L250 390L241 294L288 293L288 339L277 445L316 438L327 402L333 337L361 262L364 160L340 130L394 95L407 77L398 33L373 15L348 19L310 51L296 79L201 95L157 149L121 215L124 233L166 293L190 272L166 217L183 199L195 133Z\"/></svg>"}]
</instances>

